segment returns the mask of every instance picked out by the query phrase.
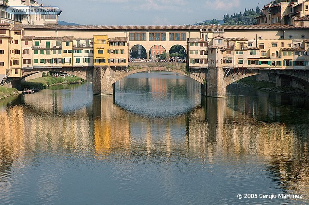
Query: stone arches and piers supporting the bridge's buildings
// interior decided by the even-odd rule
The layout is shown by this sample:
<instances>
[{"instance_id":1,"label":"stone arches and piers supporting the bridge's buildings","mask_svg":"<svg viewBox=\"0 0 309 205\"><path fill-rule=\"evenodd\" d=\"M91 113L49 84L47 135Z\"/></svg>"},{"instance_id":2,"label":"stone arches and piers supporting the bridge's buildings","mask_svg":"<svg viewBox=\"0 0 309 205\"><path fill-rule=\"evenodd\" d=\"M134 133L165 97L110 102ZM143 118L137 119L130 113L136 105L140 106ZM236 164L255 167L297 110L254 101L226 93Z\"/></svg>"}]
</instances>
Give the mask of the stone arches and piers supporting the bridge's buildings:
<instances>
[{"instance_id":1,"label":"stone arches and piers supporting the bridge's buildings","mask_svg":"<svg viewBox=\"0 0 309 205\"><path fill-rule=\"evenodd\" d=\"M211 68L188 69L186 63L138 62L129 63L127 69L110 67L62 67L23 69L23 77L39 72L63 72L92 82L93 94L108 95L114 93L114 83L134 73L146 71L169 71L179 73L201 83L202 94L209 97L226 97L226 86L242 78L258 74L268 74L276 86L286 86L296 80L309 96L309 70L295 69L255 69L255 68Z\"/></svg>"}]
</instances>

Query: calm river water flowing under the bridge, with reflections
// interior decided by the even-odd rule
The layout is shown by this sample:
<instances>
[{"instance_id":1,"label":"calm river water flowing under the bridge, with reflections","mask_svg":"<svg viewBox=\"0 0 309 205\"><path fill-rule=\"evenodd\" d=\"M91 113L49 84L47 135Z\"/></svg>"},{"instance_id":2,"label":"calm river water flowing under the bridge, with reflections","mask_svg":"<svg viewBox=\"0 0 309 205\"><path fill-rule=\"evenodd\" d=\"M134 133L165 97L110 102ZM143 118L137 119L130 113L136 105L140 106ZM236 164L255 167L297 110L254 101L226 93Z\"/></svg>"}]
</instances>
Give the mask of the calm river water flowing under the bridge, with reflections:
<instances>
[{"instance_id":1,"label":"calm river water flowing under the bridge, with reflections","mask_svg":"<svg viewBox=\"0 0 309 205\"><path fill-rule=\"evenodd\" d=\"M91 87L0 101L0 204L309 203L308 98L205 98L175 73Z\"/></svg>"}]
</instances>

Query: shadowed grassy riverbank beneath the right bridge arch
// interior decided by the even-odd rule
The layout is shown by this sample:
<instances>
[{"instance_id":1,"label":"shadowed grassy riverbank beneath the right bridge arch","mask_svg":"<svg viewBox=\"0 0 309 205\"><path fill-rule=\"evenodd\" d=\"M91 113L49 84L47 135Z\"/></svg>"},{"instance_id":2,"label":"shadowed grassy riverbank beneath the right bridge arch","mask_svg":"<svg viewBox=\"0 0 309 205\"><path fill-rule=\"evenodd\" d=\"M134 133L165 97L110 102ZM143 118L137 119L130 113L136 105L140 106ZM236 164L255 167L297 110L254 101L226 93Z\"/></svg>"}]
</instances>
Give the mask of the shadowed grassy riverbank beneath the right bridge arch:
<instances>
[{"instance_id":1,"label":"shadowed grassy riverbank beneath the right bridge arch","mask_svg":"<svg viewBox=\"0 0 309 205\"><path fill-rule=\"evenodd\" d=\"M236 83L259 88L262 90L286 93L289 95L305 95L305 91L299 88L294 88L292 86L284 86L284 87L276 86L276 84L273 82L256 81L254 77L246 77L237 81Z\"/></svg>"}]
</instances>

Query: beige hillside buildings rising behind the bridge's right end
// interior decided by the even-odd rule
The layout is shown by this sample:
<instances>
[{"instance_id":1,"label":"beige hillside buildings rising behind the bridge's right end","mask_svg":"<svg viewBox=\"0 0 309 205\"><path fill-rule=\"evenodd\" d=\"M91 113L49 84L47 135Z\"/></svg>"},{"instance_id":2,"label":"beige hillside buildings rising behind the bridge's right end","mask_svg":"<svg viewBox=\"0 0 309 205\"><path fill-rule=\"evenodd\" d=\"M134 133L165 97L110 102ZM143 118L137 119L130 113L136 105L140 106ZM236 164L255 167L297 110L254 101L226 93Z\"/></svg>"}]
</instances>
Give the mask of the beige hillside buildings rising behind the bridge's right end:
<instances>
[{"instance_id":1,"label":"beige hillside buildings rising behind the bridge's right end","mask_svg":"<svg viewBox=\"0 0 309 205\"><path fill-rule=\"evenodd\" d=\"M278 2L278 1L277 1ZM283 0L266 4L261 15L255 19L257 25L309 25L309 0Z\"/></svg>"}]
</instances>

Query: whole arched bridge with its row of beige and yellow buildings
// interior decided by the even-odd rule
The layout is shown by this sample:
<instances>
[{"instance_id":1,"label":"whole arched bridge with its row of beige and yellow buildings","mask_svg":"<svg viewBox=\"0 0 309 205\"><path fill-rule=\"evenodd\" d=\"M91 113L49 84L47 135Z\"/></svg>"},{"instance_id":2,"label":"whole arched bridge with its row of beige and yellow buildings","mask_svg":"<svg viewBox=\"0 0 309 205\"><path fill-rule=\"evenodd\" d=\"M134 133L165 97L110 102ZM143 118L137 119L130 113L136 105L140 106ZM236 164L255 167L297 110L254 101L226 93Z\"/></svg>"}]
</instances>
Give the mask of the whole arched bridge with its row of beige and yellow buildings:
<instances>
[{"instance_id":1,"label":"whole arched bridge with its row of beige and yellow buildings","mask_svg":"<svg viewBox=\"0 0 309 205\"><path fill-rule=\"evenodd\" d=\"M80 74L90 81L96 79L96 85L101 86L96 88L98 94L111 94L111 85L130 73L151 68L163 70L163 67L171 70L176 66L178 70L173 69L175 72L190 72L190 77L203 85L207 84L207 89L210 90L207 95L222 97L226 95L226 91L220 86L224 87L237 79L247 77L248 73L254 75L285 72L285 76L298 73L297 77L294 76L295 79L300 79L306 89L308 87L306 93L309 94L309 79L307 80L307 75L302 74L302 77L299 73L309 70L308 28L289 25L0 24L0 74L20 78L39 71L66 71ZM165 49L167 59L173 46L182 46L186 50L188 64L168 65L150 62L147 68L138 64L132 65L129 63L129 53L136 45L145 48L145 63L150 62L150 51L155 45ZM77 73L77 70L84 73ZM105 72L108 74L105 75ZM100 78L95 78L95 75ZM104 86L110 87L105 89ZM223 91L218 92L220 89Z\"/></svg>"}]
</instances>

